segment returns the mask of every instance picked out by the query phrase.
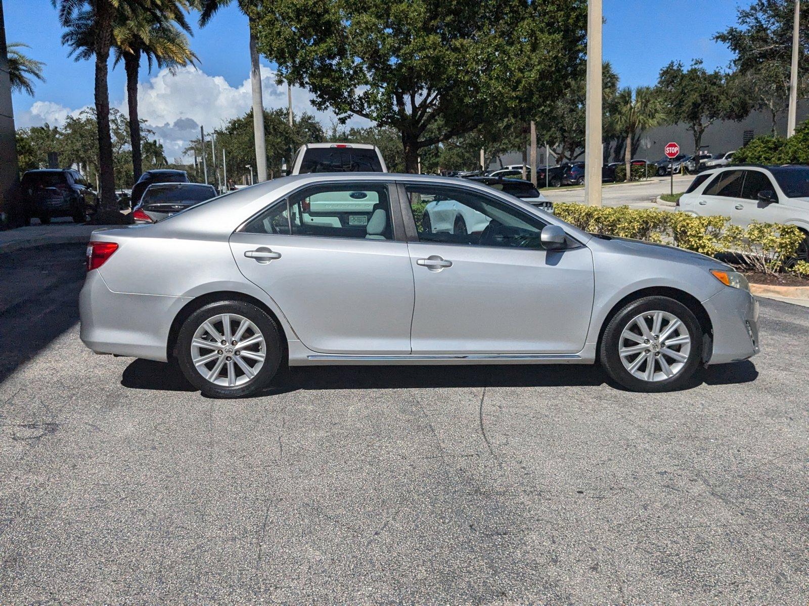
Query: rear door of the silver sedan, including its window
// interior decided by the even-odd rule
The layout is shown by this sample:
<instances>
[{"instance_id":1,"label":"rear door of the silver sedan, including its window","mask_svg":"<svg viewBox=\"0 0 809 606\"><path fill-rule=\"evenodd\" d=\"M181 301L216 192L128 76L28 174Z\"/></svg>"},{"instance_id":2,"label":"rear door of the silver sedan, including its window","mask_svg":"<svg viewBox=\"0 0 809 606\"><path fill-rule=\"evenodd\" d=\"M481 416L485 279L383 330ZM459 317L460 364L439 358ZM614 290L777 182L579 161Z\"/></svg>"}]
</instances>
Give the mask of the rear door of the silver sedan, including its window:
<instances>
[{"instance_id":1,"label":"rear door of the silver sedan, including its window","mask_svg":"<svg viewBox=\"0 0 809 606\"><path fill-rule=\"evenodd\" d=\"M413 271L390 191L379 182L304 187L231 236L239 270L312 351L410 352Z\"/></svg>"}]
</instances>

